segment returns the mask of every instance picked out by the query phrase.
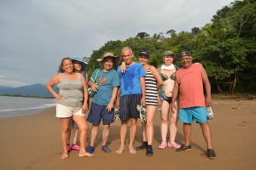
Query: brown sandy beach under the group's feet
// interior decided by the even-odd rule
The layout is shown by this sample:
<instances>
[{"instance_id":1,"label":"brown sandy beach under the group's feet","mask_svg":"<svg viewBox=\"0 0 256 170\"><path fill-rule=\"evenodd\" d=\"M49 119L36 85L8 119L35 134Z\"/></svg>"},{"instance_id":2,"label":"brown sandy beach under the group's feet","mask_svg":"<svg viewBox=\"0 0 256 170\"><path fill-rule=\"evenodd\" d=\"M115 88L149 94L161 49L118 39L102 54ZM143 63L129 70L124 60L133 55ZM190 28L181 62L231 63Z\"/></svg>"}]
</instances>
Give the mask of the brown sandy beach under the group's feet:
<instances>
[{"instance_id":1,"label":"brown sandy beach under the group's feet","mask_svg":"<svg viewBox=\"0 0 256 170\"><path fill-rule=\"evenodd\" d=\"M256 169L256 101L238 99L215 99L210 120L212 143L217 153L215 159L204 156L206 142L201 127L194 123L192 128L192 150L177 152L172 148L157 149L160 143L160 113L154 116L154 156L146 156L145 150L135 155L126 150L118 155L119 120L110 129L106 154L101 149L102 126L96 139L96 156L79 157L71 150L67 160L61 159L61 124L55 117L55 107L37 114L0 118L0 169L45 170L45 169ZM135 147L142 142L141 121L138 120ZM91 126L89 124L89 126ZM128 131L129 132L129 131ZM89 139L90 131L87 135ZM87 140L87 147L89 140ZM178 122L178 144L183 143L183 124Z\"/></svg>"}]
</instances>

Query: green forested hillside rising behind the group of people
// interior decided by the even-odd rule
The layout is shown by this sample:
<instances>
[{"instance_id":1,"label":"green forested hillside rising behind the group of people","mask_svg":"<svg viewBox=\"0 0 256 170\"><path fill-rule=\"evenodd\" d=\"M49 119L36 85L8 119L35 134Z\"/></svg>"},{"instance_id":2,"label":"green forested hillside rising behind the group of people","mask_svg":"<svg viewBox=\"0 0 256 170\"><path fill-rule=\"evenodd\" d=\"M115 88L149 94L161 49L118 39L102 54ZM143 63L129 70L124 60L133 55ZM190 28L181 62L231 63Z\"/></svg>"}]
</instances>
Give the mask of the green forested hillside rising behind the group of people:
<instances>
[{"instance_id":1,"label":"green forested hillside rising behind the group of people","mask_svg":"<svg viewBox=\"0 0 256 170\"><path fill-rule=\"evenodd\" d=\"M200 20L200 19L195 19ZM171 22L171 21L170 21ZM125 41L108 41L90 56L87 72L100 65L96 59L104 52L120 54L129 46L135 58L142 50L150 54L149 64L158 67L166 50L172 50L175 64L179 65L179 52L189 50L194 62L200 62L207 70L212 91L255 92L256 88L256 3L255 0L236 1L212 16L205 26L191 31L169 31L149 35L138 32Z\"/></svg>"}]
</instances>

